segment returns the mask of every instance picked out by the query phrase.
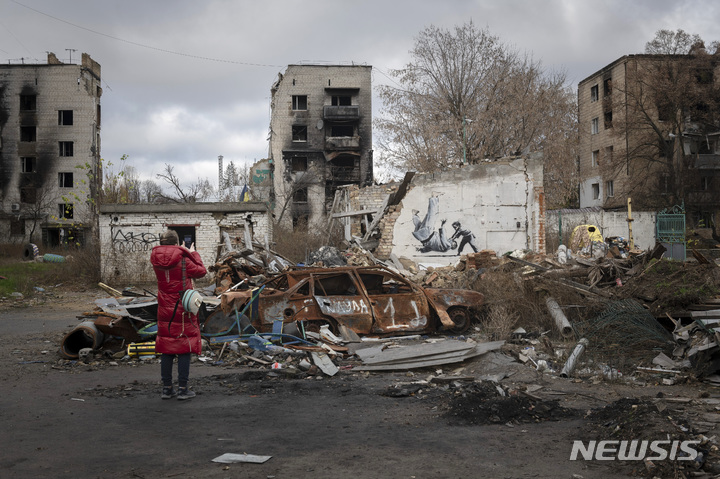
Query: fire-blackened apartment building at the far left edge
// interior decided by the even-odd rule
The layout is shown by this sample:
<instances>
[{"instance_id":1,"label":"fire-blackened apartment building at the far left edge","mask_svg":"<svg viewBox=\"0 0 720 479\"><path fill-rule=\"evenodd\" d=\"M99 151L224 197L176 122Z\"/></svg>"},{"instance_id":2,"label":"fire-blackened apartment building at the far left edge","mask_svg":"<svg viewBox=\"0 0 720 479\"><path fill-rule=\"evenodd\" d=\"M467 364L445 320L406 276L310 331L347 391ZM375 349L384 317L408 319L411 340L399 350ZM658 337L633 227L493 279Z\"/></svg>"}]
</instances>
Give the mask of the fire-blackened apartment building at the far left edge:
<instances>
[{"instance_id":1,"label":"fire-blackened apartment building at the far left edge","mask_svg":"<svg viewBox=\"0 0 720 479\"><path fill-rule=\"evenodd\" d=\"M100 164L100 65L0 65L0 242L82 244Z\"/></svg>"}]
</instances>

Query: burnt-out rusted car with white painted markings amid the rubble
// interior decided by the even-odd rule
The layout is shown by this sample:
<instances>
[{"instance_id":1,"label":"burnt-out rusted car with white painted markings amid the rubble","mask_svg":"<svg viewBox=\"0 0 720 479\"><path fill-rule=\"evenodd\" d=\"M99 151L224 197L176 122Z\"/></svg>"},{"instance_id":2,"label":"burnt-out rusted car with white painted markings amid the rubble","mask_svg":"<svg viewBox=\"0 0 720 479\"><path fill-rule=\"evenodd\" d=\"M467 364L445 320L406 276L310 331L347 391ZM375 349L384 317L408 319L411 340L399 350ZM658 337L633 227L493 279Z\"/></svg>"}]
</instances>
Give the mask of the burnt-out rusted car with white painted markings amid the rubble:
<instances>
[{"instance_id":1,"label":"burnt-out rusted car with white painted markings amid the rubble","mask_svg":"<svg viewBox=\"0 0 720 479\"><path fill-rule=\"evenodd\" d=\"M245 310L260 332L300 322L309 330L327 324L333 332L344 325L360 335L399 335L461 333L483 303L476 291L422 288L382 266L303 268L262 286L251 307L253 291L223 294L222 311Z\"/></svg>"}]
</instances>

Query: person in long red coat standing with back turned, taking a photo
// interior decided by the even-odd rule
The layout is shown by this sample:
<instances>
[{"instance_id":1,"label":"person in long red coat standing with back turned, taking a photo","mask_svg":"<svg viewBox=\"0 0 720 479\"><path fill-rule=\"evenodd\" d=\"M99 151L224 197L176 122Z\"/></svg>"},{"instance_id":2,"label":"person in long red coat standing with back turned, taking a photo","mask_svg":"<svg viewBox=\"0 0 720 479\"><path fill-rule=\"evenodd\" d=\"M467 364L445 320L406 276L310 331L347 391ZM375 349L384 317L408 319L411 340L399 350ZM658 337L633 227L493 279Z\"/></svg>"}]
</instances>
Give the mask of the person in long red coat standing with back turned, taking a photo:
<instances>
[{"instance_id":1,"label":"person in long red coat standing with back turned, taking a photo","mask_svg":"<svg viewBox=\"0 0 720 479\"><path fill-rule=\"evenodd\" d=\"M150 254L150 262L158 280L158 315L155 352L160 356L160 376L163 382L162 399L177 396L190 399L195 396L188 390L190 354L202 350L197 316L186 312L178 302L180 292L193 288L193 279L202 278L207 271L202 264L195 244L180 246L178 235L167 230L160 235L160 245ZM177 309L176 309L177 308ZM174 315L173 315L174 312ZM178 392L173 389L172 368L178 358Z\"/></svg>"}]
</instances>

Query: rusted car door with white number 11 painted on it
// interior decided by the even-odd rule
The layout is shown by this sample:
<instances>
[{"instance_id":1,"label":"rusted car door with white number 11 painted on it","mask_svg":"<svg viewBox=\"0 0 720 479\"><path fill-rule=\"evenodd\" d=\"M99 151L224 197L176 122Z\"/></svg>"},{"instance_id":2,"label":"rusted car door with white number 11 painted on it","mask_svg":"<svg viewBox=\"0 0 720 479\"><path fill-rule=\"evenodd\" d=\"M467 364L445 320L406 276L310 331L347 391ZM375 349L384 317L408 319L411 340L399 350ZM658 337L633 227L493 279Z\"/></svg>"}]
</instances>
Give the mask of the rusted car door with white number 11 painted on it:
<instances>
[{"instance_id":1,"label":"rusted car door with white number 11 painted on it","mask_svg":"<svg viewBox=\"0 0 720 479\"><path fill-rule=\"evenodd\" d=\"M361 270L375 324L373 332L407 333L432 330L427 298L402 276L384 270Z\"/></svg>"}]
</instances>

